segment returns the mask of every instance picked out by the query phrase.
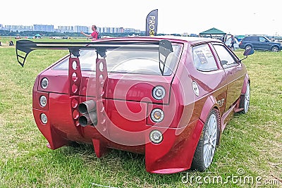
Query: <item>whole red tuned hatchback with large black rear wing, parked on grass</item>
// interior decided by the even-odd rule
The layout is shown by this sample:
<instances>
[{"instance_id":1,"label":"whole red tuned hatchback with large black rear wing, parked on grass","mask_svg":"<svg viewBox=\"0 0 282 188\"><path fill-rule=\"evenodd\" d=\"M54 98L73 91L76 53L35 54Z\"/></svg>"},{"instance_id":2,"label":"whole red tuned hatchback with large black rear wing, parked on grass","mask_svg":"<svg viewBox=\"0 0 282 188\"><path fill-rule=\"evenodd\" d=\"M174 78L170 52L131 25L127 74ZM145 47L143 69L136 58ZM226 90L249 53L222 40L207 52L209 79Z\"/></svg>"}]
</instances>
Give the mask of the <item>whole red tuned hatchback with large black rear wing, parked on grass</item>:
<instances>
[{"instance_id":1,"label":"whole red tuned hatchback with large black rear wing, parked on grass","mask_svg":"<svg viewBox=\"0 0 282 188\"><path fill-rule=\"evenodd\" d=\"M248 111L245 65L216 39L20 40L18 62L35 49L70 52L33 87L33 115L50 149L82 142L97 157L109 149L144 153L149 173L203 171L231 115Z\"/></svg>"}]
</instances>

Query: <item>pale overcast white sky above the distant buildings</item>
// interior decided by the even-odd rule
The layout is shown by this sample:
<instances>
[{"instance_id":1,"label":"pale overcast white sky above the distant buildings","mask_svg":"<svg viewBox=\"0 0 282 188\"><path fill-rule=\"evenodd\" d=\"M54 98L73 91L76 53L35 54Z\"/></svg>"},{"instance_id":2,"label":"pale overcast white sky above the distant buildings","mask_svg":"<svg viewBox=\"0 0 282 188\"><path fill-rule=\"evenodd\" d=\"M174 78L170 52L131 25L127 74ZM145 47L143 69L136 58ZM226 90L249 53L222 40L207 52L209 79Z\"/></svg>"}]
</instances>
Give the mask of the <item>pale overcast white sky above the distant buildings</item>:
<instances>
[{"instance_id":1,"label":"pale overcast white sky above the distant buildings","mask_svg":"<svg viewBox=\"0 0 282 188\"><path fill-rule=\"evenodd\" d=\"M158 33L203 32L216 27L233 35L282 35L282 1L252 0L8 0L3 25L85 25L145 30L147 14L159 10Z\"/></svg>"}]
</instances>

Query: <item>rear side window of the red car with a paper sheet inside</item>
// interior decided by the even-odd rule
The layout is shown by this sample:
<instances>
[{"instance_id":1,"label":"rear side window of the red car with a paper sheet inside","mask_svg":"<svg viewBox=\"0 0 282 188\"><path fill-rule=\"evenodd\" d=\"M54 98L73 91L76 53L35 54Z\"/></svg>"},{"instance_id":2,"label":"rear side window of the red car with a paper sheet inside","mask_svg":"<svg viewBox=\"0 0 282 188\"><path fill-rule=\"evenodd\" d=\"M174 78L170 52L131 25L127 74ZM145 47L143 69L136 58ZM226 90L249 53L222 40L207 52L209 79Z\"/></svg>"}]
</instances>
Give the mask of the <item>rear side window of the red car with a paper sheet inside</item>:
<instances>
[{"instance_id":1,"label":"rear side window of the red car with a paper sheet inside","mask_svg":"<svg viewBox=\"0 0 282 188\"><path fill-rule=\"evenodd\" d=\"M194 65L197 70L201 71L211 71L217 70L216 61L212 55L209 45L203 44L200 46L194 46L192 48Z\"/></svg>"}]
</instances>

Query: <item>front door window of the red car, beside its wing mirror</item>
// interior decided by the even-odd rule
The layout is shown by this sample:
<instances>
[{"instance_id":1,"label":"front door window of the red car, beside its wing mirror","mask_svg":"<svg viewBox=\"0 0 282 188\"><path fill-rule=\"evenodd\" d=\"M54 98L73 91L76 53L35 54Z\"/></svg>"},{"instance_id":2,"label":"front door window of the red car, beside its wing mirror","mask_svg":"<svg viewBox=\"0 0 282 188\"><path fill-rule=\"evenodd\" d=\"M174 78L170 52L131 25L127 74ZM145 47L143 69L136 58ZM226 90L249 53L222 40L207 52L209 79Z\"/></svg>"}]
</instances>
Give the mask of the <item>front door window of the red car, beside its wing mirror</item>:
<instances>
[{"instance_id":1,"label":"front door window of the red car, beside its wing mirror","mask_svg":"<svg viewBox=\"0 0 282 188\"><path fill-rule=\"evenodd\" d=\"M214 49L216 49L216 53L219 56L219 60L221 61L221 65L223 66L223 68L229 68L234 65L238 65L235 58L231 56L225 46L214 44Z\"/></svg>"}]
</instances>

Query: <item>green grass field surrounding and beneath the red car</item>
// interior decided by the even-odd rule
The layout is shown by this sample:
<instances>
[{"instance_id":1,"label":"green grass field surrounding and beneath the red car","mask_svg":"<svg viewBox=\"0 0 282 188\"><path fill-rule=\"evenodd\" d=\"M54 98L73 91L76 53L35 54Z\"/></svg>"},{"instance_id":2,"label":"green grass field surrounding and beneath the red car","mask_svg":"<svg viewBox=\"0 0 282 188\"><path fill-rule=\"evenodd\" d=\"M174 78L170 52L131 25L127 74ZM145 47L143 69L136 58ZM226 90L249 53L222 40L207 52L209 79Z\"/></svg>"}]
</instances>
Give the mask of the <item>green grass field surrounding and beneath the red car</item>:
<instances>
[{"instance_id":1,"label":"green grass field surrounding and beneath the red car","mask_svg":"<svg viewBox=\"0 0 282 188\"><path fill-rule=\"evenodd\" d=\"M282 52L255 51L245 59L250 111L228 123L209 170L173 175L147 173L145 157L135 153L97 158L91 145L47 148L32 115L32 87L67 53L32 51L21 68L15 46L0 46L0 187L282 186ZM243 50L235 53L243 58Z\"/></svg>"}]
</instances>

